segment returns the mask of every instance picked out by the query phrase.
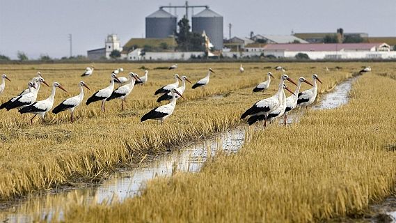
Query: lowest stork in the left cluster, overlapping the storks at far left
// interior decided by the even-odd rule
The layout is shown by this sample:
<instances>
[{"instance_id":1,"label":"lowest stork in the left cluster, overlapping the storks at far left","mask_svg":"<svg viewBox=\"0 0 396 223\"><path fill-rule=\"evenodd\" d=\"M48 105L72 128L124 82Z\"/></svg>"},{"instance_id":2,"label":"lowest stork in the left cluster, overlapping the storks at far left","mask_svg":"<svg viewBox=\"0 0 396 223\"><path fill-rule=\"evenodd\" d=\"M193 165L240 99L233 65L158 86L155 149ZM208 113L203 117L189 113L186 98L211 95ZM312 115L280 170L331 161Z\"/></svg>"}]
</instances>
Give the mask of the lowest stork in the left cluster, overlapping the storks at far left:
<instances>
[{"instance_id":1,"label":"lowest stork in the left cluster, overlapping the storks at far left","mask_svg":"<svg viewBox=\"0 0 396 223\"><path fill-rule=\"evenodd\" d=\"M49 95L49 98L47 98L45 100L40 100L38 102L34 102L32 105L26 106L26 107L20 109L19 113L20 114L24 114L24 113L34 114L33 118L35 118L35 116L37 116L37 115L40 115L41 118L44 119L45 113L47 113L49 110L51 110L52 106L54 105L56 88L59 88L65 92L68 92L63 88L63 86L61 86L61 84L59 84L58 82L54 82L54 84L52 84L52 93L51 93L51 95ZM31 120L30 120L30 123L32 125L33 125L33 118L31 118Z\"/></svg>"}]
</instances>

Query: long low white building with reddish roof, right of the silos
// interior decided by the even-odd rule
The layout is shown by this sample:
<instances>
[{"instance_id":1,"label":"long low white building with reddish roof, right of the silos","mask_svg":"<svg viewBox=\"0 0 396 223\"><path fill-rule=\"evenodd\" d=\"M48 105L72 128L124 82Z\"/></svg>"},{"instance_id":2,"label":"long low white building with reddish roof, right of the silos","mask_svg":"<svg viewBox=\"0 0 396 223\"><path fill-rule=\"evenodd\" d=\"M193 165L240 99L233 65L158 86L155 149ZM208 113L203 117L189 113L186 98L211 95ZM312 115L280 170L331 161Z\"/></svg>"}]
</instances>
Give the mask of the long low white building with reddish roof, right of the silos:
<instances>
[{"instance_id":1,"label":"long low white building with reddish roof, right of the silos","mask_svg":"<svg viewBox=\"0 0 396 223\"><path fill-rule=\"evenodd\" d=\"M396 59L386 43L310 43L269 44L264 47L264 56L294 58L307 54L310 59Z\"/></svg>"}]
</instances>

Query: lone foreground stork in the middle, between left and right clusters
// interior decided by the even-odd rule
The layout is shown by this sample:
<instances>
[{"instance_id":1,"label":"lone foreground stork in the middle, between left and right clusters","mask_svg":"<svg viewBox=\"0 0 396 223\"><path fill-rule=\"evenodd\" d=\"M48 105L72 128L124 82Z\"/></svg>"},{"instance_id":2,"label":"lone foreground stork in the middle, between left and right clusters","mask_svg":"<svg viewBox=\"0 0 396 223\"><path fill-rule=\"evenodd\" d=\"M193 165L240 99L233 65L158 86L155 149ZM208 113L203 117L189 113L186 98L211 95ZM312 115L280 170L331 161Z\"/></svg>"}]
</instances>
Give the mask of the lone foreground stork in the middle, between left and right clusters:
<instances>
[{"instance_id":1,"label":"lone foreground stork in the middle, between left and right clusters","mask_svg":"<svg viewBox=\"0 0 396 223\"><path fill-rule=\"evenodd\" d=\"M172 93L171 103L152 109L150 112L148 112L141 118L141 121L143 122L148 119L161 120L161 125L162 125L164 123L165 118L168 118L168 116L170 116L173 113L173 110L175 110L176 94L183 98L183 96L175 89L171 89L171 93Z\"/></svg>"}]
</instances>

